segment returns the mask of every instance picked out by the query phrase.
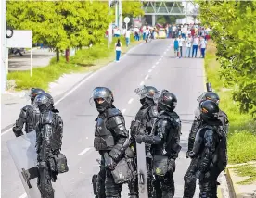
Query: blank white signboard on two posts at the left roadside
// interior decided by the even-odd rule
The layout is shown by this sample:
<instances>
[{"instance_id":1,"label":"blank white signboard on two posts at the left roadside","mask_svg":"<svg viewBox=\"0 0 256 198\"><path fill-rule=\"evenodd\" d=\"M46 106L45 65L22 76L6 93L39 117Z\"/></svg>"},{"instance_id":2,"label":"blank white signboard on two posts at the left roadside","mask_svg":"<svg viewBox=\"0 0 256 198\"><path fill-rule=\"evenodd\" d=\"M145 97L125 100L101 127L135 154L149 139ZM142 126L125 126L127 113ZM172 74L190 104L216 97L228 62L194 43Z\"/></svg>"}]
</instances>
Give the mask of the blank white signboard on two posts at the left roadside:
<instances>
[{"instance_id":1,"label":"blank white signboard on two posts at the left roadside","mask_svg":"<svg viewBox=\"0 0 256 198\"><path fill-rule=\"evenodd\" d=\"M11 38L6 40L6 48L31 48L31 76L32 76L32 31L13 30ZM8 53L6 55L8 58ZM6 60L6 73L8 72L8 59Z\"/></svg>"}]
</instances>

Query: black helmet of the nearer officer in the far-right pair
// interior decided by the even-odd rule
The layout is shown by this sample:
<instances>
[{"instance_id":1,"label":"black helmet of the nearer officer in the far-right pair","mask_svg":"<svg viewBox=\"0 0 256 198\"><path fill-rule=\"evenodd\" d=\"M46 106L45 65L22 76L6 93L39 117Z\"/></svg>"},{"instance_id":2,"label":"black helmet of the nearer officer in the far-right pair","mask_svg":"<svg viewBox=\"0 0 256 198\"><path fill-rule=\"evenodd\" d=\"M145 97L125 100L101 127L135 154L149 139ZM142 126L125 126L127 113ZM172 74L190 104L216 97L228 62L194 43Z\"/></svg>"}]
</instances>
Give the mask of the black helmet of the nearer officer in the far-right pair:
<instances>
[{"instance_id":1,"label":"black helmet of the nearer officer in the far-right pair","mask_svg":"<svg viewBox=\"0 0 256 198\"><path fill-rule=\"evenodd\" d=\"M212 100L203 101L200 104L199 109L200 109L200 113L201 113L201 118L204 121L210 122L210 121L218 120L220 108Z\"/></svg>"}]
</instances>

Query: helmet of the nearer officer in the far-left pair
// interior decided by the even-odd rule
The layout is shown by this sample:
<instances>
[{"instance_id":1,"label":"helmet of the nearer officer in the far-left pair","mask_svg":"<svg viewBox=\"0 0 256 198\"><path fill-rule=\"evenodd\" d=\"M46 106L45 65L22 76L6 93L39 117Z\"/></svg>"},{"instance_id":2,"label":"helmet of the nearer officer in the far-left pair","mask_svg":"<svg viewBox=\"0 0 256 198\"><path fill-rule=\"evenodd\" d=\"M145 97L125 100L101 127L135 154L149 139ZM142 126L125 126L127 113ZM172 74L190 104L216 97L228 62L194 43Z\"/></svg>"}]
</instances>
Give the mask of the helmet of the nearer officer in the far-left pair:
<instances>
[{"instance_id":1,"label":"helmet of the nearer officer in the far-left pair","mask_svg":"<svg viewBox=\"0 0 256 198\"><path fill-rule=\"evenodd\" d=\"M54 109L54 99L49 93L38 94L34 99L34 103L41 112Z\"/></svg>"}]
</instances>

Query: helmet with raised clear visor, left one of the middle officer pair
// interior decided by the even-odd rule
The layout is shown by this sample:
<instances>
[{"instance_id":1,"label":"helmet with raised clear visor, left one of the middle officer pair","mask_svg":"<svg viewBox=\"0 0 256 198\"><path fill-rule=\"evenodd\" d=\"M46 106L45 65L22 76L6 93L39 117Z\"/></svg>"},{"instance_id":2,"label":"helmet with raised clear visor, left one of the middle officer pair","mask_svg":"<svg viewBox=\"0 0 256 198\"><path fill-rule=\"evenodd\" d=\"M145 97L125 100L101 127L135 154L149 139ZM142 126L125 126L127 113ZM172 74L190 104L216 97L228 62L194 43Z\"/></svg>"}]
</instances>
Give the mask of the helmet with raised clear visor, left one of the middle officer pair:
<instances>
[{"instance_id":1,"label":"helmet with raised clear visor, left one of the middle officer pair","mask_svg":"<svg viewBox=\"0 0 256 198\"><path fill-rule=\"evenodd\" d=\"M134 93L140 96L140 103L142 105L153 105L154 104L153 96L157 92L159 91L155 87L145 86L145 85L141 88L137 88L134 90Z\"/></svg>"}]
</instances>

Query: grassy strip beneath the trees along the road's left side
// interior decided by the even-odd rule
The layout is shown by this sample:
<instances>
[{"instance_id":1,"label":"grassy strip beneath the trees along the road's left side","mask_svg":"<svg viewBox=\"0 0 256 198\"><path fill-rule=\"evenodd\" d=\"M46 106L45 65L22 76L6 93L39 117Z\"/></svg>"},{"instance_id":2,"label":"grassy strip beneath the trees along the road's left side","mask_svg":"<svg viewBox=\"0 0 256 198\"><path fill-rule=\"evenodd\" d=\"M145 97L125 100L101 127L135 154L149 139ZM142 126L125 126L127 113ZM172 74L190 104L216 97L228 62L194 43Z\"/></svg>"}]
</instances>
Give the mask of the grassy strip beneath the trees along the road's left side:
<instances>
[{"instance_id":1,"label":"grassy strip beneath the trees along the road's left side","mask_svg":"<svg viewBox=\"0 0 256 198\"><path fill-rule=\"evenodd\" d=\"M50 64L42 68L32 68L32 77L30 70L28 71L12 71L8 73L8 80L15 80L16 90L27 90L32 87L40 87L47 90L48 84L58 80L63 74L72 72L89 72L95 71L112 62L115 59L115 46L117 38L113 38L110 49L108 49L108 41L94 45L88 49L77 51L75 56L70 56L70 62L65 61L65 57L61 56L60 61L56 62L56 58L52 58ZM139 43L134 41L131 36L131 44L129 47L125 45L125 38L121 38L122 55L129 48Z\"/></svg>"}]
</instances>

